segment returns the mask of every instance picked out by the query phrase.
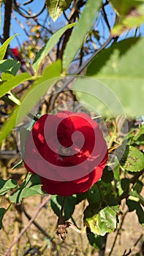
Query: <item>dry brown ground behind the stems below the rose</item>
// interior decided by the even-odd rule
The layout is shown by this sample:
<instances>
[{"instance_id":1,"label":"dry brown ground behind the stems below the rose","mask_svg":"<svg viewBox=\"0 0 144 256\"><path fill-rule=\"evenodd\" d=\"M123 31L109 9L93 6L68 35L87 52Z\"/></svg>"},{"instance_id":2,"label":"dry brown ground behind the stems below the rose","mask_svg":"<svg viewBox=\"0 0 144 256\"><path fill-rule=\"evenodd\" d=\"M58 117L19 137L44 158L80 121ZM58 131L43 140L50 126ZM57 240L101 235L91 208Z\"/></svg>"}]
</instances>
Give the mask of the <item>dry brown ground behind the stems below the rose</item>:
<instances>
[{"instance_id":1,"label":"dry brown ground behind the stems below the rose","mask_svg":"<svg viewBox=\"0 0 144 256\"><path fill-rule=\"evenodd\" d=\"M23 200L23 205L31 217L34 215L35 211L37 211L40 201L40 195L28 197ZM0 207L7 208L8 205L9 203L7 198L1 197ZM124 201L122 208L124 213L126 211ZM0 256L4 256L4 252L7 251L7 248L10 246L13 239L18 236L18 233L20 233L20 229L29 222L29 219L23 212L21 214L16 214L17 211L12 205L9 211L7 211L7 214L4 215L4 230L0 230ZM17 216L16 219L15 216ZM122 217L123 215L119 217L120 223ZM29 226L29 229L26 230L26 233L24 233L20 238L19 244L13 247L10 256L23 256L26 249L34 246L39 248L42 256L98 256L98 251L88 243L86 228L83 227L83 202L76 206L73 218L75 219L77 226L81 228L81 233L77 233L75 230L69 228L66 240L61 241L61 239L56 236L58 218L50 208L50 203L48 203L47 208L42 208L42 211L39 212L35 221L43 230L45 230L46 233L48 233L48 236L50 236L53 243L48 238L45 238L37 227L32 224ZM105 256L109 256L110 254L110 249L113 246L116 232L117 230L115 230L114 233L109 234L107 237ZM139 238L140 241L138 241ZM134 246L136 243L137 245ZM142 244L143 227L139 224L135 212L128 213L124 218L121 233L118 234L111 256L122 256L124 255L125 249L126 253L129 252L129 249L132 249L131 254L129 254L130 256L142 256L144 255L141 251Z\"/></svg>"}]
</instances>

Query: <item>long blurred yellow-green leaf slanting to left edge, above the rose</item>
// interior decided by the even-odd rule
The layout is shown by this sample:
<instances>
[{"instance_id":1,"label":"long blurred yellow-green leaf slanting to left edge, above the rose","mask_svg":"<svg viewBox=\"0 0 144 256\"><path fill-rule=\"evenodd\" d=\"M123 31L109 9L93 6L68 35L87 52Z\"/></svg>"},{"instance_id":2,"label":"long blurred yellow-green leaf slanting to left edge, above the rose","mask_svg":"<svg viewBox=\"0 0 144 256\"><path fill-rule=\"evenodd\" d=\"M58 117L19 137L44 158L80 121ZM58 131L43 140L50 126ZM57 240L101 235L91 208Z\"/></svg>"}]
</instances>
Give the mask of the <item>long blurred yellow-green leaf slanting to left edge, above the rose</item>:
<instances>
[{"instance_id":1,"label":"long blurred yellow-green leaf slanting to left edge, above the rose","mask_svg":"<svg viewBox=\"0 0 144 256\"><path fill-rule=\"evenodd\" d=\"M15 110L13 111L12 115L7 120L6 124L4 124L4 127L1 129L0 142L4 140L4 138L7 137L10 131L16 125L19 124L23 117L31 111L34 105L36 105L36 103L39 102L39 99L43 95L45 95L50 86L52 86L53 83L56 83L56 81L59 78L59 75L61 75L61 61L56 61L45 69L45 71L42 73L42 77L37 78L37 80L31 86L29 91L27 91L27 93L24 95L21 101L21 105L15 107ZM10 86L10 81L6 83L8 83L8 85Z\"/></svg>"}]
</instances>

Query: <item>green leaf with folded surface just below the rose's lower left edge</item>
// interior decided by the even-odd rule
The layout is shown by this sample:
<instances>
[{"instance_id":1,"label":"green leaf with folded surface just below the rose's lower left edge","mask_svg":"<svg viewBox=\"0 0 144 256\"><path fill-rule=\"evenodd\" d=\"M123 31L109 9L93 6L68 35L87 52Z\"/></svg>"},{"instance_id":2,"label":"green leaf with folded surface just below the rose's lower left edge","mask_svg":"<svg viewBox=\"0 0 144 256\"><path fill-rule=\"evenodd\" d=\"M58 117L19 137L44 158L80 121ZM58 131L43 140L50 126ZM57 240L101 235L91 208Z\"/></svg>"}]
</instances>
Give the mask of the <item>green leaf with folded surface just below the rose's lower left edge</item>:
<instances>
[{"instance_id":1,"label":"green leaf with folded surface just below the rose's lower left edge","mask_svg":"<svg viewBox=\"0 0 144 256\"><path fill-rule=\"evenodd\" d=\"M12 192L10 195L10 201L12 203L20 203L25 197L32 195L42 195L41 179L36 174L29 174L20 188Z\"/></svg>"}]
</instances>

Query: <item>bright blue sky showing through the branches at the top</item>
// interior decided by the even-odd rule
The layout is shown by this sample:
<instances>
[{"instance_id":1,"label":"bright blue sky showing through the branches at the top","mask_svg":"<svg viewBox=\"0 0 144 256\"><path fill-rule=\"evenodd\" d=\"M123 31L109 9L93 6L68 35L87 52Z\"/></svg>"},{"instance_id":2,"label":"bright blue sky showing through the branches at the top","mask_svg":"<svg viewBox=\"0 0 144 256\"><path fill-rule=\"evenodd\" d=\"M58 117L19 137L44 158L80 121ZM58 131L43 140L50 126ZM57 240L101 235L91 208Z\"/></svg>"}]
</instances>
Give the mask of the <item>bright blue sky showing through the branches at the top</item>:
<instances>
[{"instance_id":1,"label":"bright blue sky showing through the branches at the top","mask_svg":"<svg viewBox=\"0 0 144 256\"><path fill-rule=\"evenodd\" d=\"M31 10L33 10L33 13L37 13L37 12L39 12L39 10L42 10L45 0L40 0L40 1L34 0L33 3L28 4L26 6L22 5L25 2L23 0L19 0L18 2L21 4L21 7L23 7L24 9L29 10L29 7L31 7ZM112 9L112 7L110 7L110 5L107 5L107 7L105 7L105 10L109 14L108 19L110 21L110 25L113 26L113 23L115 20L115 15L114 15L113 9ZM69 15L69 11L67 11L66 13L67 13L67 15ZM18 14L18 12L15 12L15 11L13 11L13 14L20 21L20 23L22 23L23 26L25 26L26 31L28 31L28 33L29 33L29 28L26 24L26 21L32 22L32 19L26 20L26 18L23 18L21 15ZM43 23L47 15L48 15L48 10L45 10L44 12L42 12L42 14L38 16L39 23ZM61 15L60 18L58 18L58 20L56 20L56 23L54 23L53 20L49 16L48 20L45 23L45 26L49 27L51 25L53 27L53 31L57 31L62 26L64 26L66 24L66 22L67 21L64 18L64 15ZM1 37L3 34L3 27L4 27L4 4L2 4L2 7L1 7L1 27L0 27ZM105 42L105 38L102 37L102 34L104 33L104 31L103 31L104 26L102 24L102 20L99 21L98 29L100 31L101 43L103 43L103 42ZM144 31L144 25L141 26L141 31L142 32ZM17 38L15 37L14 39L12 39L12 42L10 44L11 48L15 48L16 46L18 46L18 42L19 42L19 45L22 45L23 41L28 39L28 37L26 37L26 33L20 27L20 24L18 24L18 22L15 20L15 18L12 15L11 26L10 26L10 36L12 36L12 34L17 34L17 33L20 35ZM131 37L134 36L134 30L129 33L129 37L130 36ZM108 30L107 30L106 26L105 26L105 37L108 37ZM126 37L126 34L122 35L122 37L120 39L124 39L125 37Z\"/></svg>"}]
</instances>

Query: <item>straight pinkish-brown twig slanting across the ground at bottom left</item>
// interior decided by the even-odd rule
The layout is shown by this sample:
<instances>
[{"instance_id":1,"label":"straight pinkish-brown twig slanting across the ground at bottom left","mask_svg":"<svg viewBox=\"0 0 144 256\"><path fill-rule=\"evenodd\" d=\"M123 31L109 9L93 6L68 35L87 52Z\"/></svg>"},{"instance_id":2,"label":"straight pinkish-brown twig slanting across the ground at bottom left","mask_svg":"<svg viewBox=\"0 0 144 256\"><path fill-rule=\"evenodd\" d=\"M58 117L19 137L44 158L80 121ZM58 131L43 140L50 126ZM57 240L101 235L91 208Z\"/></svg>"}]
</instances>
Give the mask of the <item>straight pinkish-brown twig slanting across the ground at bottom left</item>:
<instances>
[{"instance_id":1,"label":"straight pinkish-brown twig slanting across the ground at bottom left","mask_svg":"<svg viewBox=\"0 0 144 256\"><path fill-rule=\"evenodd\" d=\"M18 241L20 240L20 237L23 236L23 233L26 232L26 230L29 228L29 226L31 225L31 223L34 221L34 219L37 217L37 215L39 214L39 211L42 210L43 206L45 206L46 203L48 203L48 200L50 200L50 195L48 195L47 199L44 200L42 203L39 204L39 207L36 211L36 213L34 214L34 216L30 219L30 221L28 222L28 224L23 228L23 230L21 230L21 232L18 235L18 238L15 239L15 241L12 242L12 244L10 245L9 249L7 249L7 252L5 253L4 256L8 256L12 247L18 243Z\"/></svg>"}]
</instances>

